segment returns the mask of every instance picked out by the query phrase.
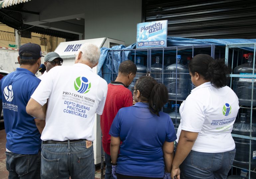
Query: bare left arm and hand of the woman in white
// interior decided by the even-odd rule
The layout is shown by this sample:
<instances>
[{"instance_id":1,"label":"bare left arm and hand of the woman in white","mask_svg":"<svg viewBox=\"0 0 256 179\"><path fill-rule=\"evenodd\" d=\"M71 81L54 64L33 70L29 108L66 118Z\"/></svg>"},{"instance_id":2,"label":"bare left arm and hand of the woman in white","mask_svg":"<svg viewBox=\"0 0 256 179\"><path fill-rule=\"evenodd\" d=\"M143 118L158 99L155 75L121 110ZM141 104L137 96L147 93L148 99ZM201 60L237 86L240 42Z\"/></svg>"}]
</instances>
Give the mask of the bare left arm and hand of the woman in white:
<instances>
[{"instance_id":1,"label":"bare left arm and hand of the woman in white","mask_svg":"<svg viewBox=\"0 0 256 179\"><path fill-rule=\"evenodd\" d=\"M180 178L180 165L185 160L185 158L190 153L194 142L197 138L198 132L189 132L189 131L181 131L181 135L179 138L179 143L177 146L177 150L173 159L173 168L171 172L171 177L174 179L174 176L177 176L176 179Z\"/></svg>"}]
</instances>

